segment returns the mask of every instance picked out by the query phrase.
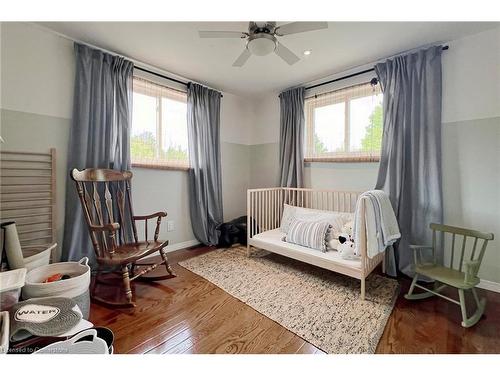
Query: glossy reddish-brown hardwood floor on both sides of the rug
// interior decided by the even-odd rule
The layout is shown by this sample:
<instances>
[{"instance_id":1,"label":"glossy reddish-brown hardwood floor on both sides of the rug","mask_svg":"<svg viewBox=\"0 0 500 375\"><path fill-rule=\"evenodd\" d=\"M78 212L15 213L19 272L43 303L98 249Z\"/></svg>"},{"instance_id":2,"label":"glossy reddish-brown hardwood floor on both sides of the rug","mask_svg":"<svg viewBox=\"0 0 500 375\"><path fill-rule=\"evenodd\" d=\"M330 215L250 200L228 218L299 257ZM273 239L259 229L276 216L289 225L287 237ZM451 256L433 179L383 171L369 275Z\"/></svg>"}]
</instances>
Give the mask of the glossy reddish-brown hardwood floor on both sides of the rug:
<instances>
[{"instance_id":1,"label":"glossy reddish-brown hardwood floor on both sides of the rug","mask_svg":"<svg viewBox=\"0 0 500 375\"><path fill-rule=\"evenodd\" d=\"M169 253L178 277L133 283L134 309L92 304L90 320L113 330L115 353L323 353L177 265L210 250ZM500 353L500 294L481 290L488 300L485 317L465 329L460 326L458 306L438 298L407 301L403 294L408 285L401 280L400 296L377 353ZM121 295L109 286L100 287L99 293L110 299Z\"/></svg>"}]
</instances>

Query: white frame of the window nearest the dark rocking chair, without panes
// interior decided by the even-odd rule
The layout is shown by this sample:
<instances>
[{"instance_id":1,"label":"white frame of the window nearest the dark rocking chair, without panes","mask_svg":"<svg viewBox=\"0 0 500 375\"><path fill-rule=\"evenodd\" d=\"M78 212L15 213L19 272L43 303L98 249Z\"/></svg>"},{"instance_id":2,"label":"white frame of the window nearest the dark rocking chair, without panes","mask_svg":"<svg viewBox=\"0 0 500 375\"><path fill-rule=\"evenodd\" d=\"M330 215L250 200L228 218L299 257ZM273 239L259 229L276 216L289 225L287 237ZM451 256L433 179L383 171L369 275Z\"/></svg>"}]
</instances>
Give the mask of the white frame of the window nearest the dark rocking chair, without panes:
<instances>
[{"instance_id":1,"label":"white frame of the window nearest the dark rocking chair, without panes","mask_svg":"<svg viewBox=\"0 0 500 375\"><path fill-rule=\"evenodd\" d=\"M145 82L148 82L152 85L156 86L161 86L165 91L168 93L169 91L171 92L172 95L156 95L153 96L151 95L150 92L148 92L147 89L144 87L140 87L135 85L136 80L142 80ZM132 168L143 168L143 169L159 169L159 170L173 170L173 171L189 171L191 168L189 164L189 154L188 154L188 160L186 165L179 165L177 163L169 162L169 161L162 161L161 159L158 158L159 152L161 150L161 144L162 144L162 99L170 99L174 101L179 101L186 103L187 102L187 93L185 91L169 87L163 83L156 82L152 79L142 77L140 75L134 75L133 76L133 85L132 85L132 95L138 93L141 95L146 95L150 96L156 99L156 140L157 140L157 147L155 149L155 159L152 159L151 162L148 162L147 159L143 160L134 160L132 153L130 154L130 165ZM183 97L183 100L179 100L179 97ZM132 117L133 118L133 117ZM187 118L187 112L186 112L186 118ZM132 130L131 125L131 130ZM132 138L132 131L130 137ZM130 145L131 147L131 145Z\"/></svg>"}]
</instances>

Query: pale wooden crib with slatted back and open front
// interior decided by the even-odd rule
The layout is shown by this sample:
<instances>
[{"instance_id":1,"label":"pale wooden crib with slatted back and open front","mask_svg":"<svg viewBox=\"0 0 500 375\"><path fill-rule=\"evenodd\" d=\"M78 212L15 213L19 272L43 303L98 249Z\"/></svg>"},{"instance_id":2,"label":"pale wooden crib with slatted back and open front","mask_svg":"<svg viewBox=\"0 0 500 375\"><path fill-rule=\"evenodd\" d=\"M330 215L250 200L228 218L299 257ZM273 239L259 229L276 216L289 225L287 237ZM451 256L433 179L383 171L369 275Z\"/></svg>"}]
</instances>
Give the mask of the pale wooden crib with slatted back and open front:
<instances>
[{"instance_id":1,"label":"pale wooden crib with slatted back and open front","mask_svg":"<svg viewBox=\"0 0 500 375\"><path fill-rule=\"evenodd\" d=\"M352 212L361 192L334 190L265 188L250 189L247 192L247 254L251 248L260 248L305 263L322 267L361 280L361 299L365 298L365 279L380 264L384 267L384 253L369 258L366 253L365 222L361 220L361 243L356 244L361 256L358 260L345 260L337 251L323 253L318 250L282 241L279 231L283 205L312 208L327 211ZM364 217L364 203L361 215Z\"/></svg>"}]
</instances>

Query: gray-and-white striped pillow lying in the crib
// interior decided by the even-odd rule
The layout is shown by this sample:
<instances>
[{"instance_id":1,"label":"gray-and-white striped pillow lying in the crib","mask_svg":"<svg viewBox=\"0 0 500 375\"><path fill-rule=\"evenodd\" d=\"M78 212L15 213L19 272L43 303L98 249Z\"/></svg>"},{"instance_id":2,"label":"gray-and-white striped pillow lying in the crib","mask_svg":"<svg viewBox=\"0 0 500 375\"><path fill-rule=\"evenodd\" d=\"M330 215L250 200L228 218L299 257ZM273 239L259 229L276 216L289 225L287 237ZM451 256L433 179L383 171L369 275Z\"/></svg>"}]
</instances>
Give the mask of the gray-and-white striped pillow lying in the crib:
<instances>
[{"instance_id":1,"label":"gray-and-white striped pillow lying in the crib","mask_svg":"<svg viewBox=\"0 0 500 375\"><path fill-rule=\"evenodd\" d=\"M326 252L326 236L332 226L326 221L294 220L285 237L285 241Z\"/></svg>"}]
</instances>

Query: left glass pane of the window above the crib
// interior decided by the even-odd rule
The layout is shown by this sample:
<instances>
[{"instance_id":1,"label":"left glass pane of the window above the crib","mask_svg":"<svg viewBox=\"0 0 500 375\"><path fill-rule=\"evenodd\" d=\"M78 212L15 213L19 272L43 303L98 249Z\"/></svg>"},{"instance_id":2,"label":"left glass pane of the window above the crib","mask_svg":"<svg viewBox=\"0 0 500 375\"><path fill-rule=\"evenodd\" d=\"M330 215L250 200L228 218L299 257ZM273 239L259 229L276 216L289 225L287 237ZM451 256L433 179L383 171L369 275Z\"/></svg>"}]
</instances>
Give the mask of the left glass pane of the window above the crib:
<instances>
[{"instance_id":1,"label":"left glass pane of the window above the crib","mask_svg":"<svg viewBox=\"0 0 500 375\"><path fill-rule=\"evenodd\" d=\"M345 103L314 109L314 155L344 151Z\"/></svg>"}]
</instances>

